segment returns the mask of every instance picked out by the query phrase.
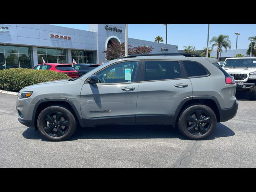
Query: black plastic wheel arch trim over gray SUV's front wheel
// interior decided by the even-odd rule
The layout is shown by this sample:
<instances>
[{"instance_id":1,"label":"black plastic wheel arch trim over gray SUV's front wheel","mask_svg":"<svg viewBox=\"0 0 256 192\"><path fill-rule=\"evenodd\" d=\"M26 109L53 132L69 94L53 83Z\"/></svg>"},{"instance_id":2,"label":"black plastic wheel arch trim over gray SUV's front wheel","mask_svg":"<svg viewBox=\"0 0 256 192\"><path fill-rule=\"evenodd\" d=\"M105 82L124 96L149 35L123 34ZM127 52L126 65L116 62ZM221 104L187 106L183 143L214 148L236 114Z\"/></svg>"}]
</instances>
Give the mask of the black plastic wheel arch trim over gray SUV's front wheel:
<instances>
[{"instance_id":1,"label":"black plastic wheel arch trim over gray SUV's front wheel","mask_svg":"<svg viewBox=\"0 0 256 192\"><path fill-rule=\"evenodd\" d=\"M64 107L68 108L72 112L72 114L74 114L74 117L75 117L76 121L79 122L80 126L84 125L84 121L82 120L76 107L70 100L68 100L66 98L50 98L50 99L39 100L34 107L32 121L34 122L35 130L38 130L36 122L37 122L37 118L38 118L38 115L40 114L40 112L42 110L44 110L46 107L52 106L52 105L59 105L59 106L64 106Z\"/></svg>"}]
</instances>

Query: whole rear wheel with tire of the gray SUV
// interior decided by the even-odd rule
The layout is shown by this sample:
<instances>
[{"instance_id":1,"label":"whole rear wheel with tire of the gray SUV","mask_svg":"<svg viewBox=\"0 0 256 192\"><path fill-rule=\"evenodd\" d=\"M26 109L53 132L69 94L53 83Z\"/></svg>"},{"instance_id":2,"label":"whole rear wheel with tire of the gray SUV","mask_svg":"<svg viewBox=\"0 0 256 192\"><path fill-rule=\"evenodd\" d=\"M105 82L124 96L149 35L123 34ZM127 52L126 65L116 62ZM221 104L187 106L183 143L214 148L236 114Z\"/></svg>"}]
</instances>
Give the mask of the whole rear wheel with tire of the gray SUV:
<instances>
[{"instance_id":1,"label":"whole rear wheel with tire of the gray SUV","mask_svg":"<svg viewBox=\"0 0 256 192\"><path fill-rule=\"evenodd\" d=\"M202 113L200 114L200 112ZM201 121L198 120L198 116L200 116ZM204 140L209 137L214 132L216 124L217 119L214 111L203 104L189 106L178 119L180 132L192 140Z\"/></svg>"}]
</instances>

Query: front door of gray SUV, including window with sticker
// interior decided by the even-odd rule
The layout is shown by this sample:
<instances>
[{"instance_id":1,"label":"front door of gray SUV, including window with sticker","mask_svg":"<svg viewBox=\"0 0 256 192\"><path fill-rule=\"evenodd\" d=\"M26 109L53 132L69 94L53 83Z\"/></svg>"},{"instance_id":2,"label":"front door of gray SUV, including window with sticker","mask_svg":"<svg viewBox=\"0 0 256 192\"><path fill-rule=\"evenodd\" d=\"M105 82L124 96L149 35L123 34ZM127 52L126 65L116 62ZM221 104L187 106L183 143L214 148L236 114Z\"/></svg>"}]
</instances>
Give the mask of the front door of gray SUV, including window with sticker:
<instances>
[{"instance_id":1,"label":"front door of gray SUV, including window with sticker","mask_svg":"<svg viewBox=\"0 0 256 192\"><path fill-rule=\"evenodd\" d=\"M85 82L80 97L86 124L135 122L140 61L118 62L96 72L99 83Z\"/></svg>"}]
</instances>

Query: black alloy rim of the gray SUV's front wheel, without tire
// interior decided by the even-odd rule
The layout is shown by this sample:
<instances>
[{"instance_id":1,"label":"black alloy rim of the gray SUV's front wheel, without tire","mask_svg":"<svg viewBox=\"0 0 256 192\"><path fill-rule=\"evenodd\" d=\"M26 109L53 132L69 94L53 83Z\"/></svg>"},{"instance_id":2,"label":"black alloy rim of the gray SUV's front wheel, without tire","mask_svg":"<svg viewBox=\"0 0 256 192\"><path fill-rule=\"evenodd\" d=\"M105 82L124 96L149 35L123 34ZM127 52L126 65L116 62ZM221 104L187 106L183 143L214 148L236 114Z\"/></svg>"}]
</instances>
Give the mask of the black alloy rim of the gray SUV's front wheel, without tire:
<instances>
[{"instance_id":1,"label":"black alloy rim of the gray SUV's front wheel, without tire","mask_svg":"<svg viewBox=\"0 0 256 192\"><path fill-rule=\"evenodd\" d=\"M66 116L59 111L54 111L44 116L44 130L53 137L60 137L68 132L69 121Z\"/></svg>"}]
</instances>

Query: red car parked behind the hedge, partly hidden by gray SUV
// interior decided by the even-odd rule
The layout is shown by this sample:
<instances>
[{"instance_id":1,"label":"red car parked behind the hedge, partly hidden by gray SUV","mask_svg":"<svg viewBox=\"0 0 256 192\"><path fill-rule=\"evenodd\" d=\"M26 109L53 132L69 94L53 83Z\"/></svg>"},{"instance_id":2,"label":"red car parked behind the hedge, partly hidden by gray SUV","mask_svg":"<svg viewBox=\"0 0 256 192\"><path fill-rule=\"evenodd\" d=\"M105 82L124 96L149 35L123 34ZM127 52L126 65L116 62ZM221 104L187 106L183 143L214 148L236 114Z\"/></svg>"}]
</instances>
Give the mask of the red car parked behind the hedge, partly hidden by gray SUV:
<instances>
[{"instance_id":1,"label":"red car parked behind the hedge, partly hidden by gray SUV","mask_svg":"<svg viewBox=\"0 0 256 192\"><path fill-rule=\"evenodd\" d=\"M70 64L60 64L60 63L46 63L38 64L33 67L34 70L52 70L60 73L66 73L70 78L79 77L78 72L70 66Z\"/></svg>"}]
</instances>

